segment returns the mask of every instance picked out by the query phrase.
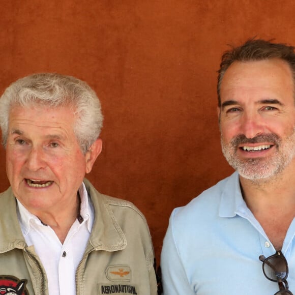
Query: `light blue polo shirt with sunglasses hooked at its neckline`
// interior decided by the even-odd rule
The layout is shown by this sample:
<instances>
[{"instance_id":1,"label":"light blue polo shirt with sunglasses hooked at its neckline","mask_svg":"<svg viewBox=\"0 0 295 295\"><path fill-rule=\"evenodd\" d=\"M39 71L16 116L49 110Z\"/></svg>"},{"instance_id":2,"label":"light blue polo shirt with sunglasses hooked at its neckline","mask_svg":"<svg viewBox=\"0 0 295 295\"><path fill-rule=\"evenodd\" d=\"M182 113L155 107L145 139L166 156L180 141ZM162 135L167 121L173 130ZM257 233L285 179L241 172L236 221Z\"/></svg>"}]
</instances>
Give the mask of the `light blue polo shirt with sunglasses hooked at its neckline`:
<instances>
[{"instance_id":1,"label":"light blue polo shirt with sunglasses hooked at its neckline","mask_svg":"<svg viewBox=\"0 0 295 295\"><path fill-rule=\"evenodd\" d=\"M282 248L292 293L294 234L293 220ZM239 174L234 172L186 206L173 210L161 254L164 295L273 295L279 290L278 283L264 277L258 257L275 252L248 209Z\"/></svg>"}]
</instances>

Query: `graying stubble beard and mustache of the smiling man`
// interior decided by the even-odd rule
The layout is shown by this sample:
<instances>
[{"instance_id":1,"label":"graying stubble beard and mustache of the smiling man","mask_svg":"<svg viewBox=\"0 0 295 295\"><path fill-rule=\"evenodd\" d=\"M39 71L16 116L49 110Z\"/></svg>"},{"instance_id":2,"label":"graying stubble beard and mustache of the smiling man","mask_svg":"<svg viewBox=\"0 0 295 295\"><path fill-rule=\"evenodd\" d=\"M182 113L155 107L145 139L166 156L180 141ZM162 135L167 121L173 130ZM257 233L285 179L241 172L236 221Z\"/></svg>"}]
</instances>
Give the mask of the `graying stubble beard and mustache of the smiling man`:
<instances>
[{"instance_id":1,"label":"graying stubble beard and mustache of the smiling man","mask_svg":"<svg viewBox=\"0 0 295 295\"><path fill-rule=\"evenodd\" d=\"M263 142L274 143L272 149L276 149L276 151L271 157L241 159L237 156L239 145ZM271 180L279 175L295 156L295 127L284 140L274 133L261 134L251 139L245 135L237 135L230 143L226 144L221 134L221 147L229 165L237 170L243 178L252 181Z\"/></svg>"}]
</instances>

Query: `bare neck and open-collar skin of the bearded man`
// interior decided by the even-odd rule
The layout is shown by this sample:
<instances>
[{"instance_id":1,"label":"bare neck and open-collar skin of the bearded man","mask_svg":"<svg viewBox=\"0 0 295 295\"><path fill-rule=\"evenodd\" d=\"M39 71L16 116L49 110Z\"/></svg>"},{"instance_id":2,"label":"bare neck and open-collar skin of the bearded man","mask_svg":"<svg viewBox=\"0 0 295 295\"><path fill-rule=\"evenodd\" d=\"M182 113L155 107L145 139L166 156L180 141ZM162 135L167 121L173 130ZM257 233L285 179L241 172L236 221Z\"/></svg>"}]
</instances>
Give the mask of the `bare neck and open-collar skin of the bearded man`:
<instances>
[{"instance_id":1,"label":"bare neck and open-collar skin of the bearded man","mask_svg":"<svg viewBox=\"0 0 295 295\"><path fill-rule=\"evenodd\" d=\"M240 177L243 197L275 249L283 246L286 232L295 217L294 160L280 174L267 180Z\"/></svg>"}]
</instances>

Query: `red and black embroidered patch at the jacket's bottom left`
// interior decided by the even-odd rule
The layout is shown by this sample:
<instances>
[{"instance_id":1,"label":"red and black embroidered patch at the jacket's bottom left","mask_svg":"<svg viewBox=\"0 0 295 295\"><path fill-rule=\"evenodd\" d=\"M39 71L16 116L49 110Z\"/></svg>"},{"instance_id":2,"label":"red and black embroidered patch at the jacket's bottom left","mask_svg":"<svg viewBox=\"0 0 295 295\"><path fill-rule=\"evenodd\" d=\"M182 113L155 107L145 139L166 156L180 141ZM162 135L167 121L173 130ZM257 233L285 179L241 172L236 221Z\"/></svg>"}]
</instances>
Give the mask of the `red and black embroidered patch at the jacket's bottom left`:
<instances>
[{"instance_id":1,"label":"red and black embroidered patch at the jacket's bottom left","mask_svg":"<svg viewBox=\"0 0 295 295\"><path fill-rule=\"evenodd\" d=\"M0 276L0 294L29 295L25 285L27 280L19 280L14 276Z\"/></svg>"}]
</instances>

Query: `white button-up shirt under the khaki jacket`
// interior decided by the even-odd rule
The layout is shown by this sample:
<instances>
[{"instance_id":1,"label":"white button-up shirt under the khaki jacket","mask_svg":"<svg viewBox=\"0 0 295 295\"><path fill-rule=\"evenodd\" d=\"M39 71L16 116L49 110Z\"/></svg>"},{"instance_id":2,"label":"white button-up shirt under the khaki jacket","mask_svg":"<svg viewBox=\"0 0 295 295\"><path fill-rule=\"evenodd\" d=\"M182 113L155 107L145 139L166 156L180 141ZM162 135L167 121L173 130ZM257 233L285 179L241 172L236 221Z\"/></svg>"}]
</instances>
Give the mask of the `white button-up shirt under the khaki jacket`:
<instances>
[{"instance_id":1,"label":"white button-up shirt under the khaki jacket","mask_svg":"<svg viewBox=\"0 0 295 295\"><path fill-rule=\"evenodd\" d=\"M50 295L75 295L75 272L90 237L94 221L93 205L84 184L79 188L80 216L72 224L64 244L50 226L28 212L17 201L18 221L28 246L34 245L48 279Z\"/></svg>"}]
</instances>

